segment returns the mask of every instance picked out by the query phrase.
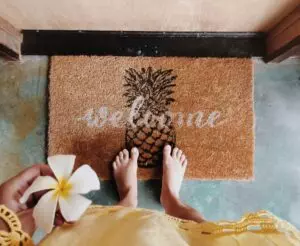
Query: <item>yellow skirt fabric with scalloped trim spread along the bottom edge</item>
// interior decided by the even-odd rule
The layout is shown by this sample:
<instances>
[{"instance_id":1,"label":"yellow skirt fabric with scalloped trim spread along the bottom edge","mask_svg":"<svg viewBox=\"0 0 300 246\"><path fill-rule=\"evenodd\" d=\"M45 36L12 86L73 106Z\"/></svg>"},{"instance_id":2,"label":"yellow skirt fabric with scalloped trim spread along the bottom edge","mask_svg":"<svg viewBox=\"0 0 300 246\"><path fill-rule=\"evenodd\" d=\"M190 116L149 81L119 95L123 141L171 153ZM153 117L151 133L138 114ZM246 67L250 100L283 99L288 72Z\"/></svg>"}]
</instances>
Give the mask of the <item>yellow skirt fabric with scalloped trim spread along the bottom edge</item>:
<instances>
[{"instance_id":1,"label":"yellow skirt fabric with scalloped trim spread along the bottom edge","mask_svg":"<svg viewBox=\"0 0 300 246\"><path fill-rule=\"evenodd\" d=\"M286 246L300 245L300 234L265 211L239 222L199 224L145 209L92 206L80 221L56 228L40 245Z\"/></svg>"}]
</instances>

